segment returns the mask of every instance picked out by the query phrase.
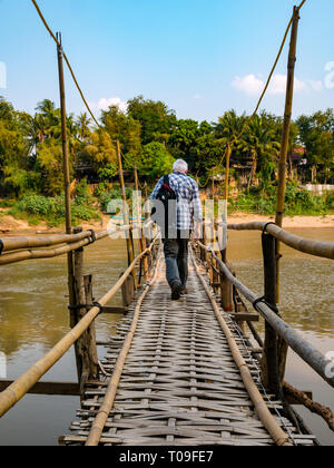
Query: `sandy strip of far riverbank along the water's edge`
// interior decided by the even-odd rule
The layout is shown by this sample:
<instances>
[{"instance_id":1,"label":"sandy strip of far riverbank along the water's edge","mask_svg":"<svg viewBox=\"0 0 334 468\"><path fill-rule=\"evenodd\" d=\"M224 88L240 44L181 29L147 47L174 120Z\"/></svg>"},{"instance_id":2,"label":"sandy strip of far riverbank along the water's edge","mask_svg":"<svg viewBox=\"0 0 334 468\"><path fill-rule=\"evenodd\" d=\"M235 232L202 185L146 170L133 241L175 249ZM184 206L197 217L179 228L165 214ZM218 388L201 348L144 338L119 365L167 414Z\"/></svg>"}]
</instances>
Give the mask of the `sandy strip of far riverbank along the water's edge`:
<instances>
[{"instance_id":1,"label":"sandy strip of far riverbank along the water's edge","mask_svg":"<svg viewBox=\"0 0 334 468\"><path fill-rule=\"evenodd\" d=\"M63 227L48 227L47 223L30 226L26 220L16 220L6 215L0 209L0 235L22 235L22 234L50 234L63 233ZM247 213L234 213L228 217L229 223L250 223L254 221L272 222L273 216L262 216ZM109 216L101 216L100 221L91 223L81 223L84 230L105 230L108 225ZM326 216L287 216L284 220L285 228L334 228L334 215ZM333 235L334 237L334 235Z\"/></svg>"}]
</instances>

